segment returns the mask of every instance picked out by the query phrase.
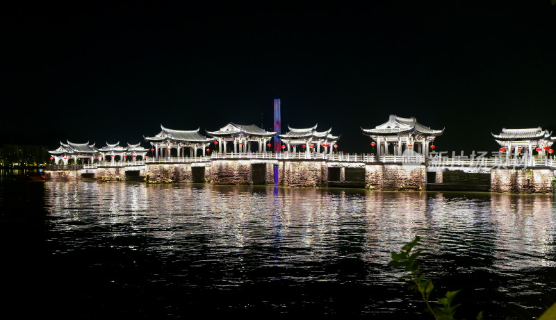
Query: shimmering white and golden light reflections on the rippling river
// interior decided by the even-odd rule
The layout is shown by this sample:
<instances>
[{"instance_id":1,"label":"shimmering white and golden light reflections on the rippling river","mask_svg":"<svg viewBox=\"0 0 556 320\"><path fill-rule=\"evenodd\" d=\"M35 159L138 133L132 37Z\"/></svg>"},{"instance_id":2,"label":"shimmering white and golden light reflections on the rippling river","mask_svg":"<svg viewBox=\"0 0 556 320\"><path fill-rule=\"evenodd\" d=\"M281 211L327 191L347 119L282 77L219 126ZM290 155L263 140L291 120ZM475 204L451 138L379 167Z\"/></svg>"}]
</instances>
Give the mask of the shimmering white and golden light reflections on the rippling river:
<instances>
[{"instance_id":1,"label":"shimmering white and golden light reflections on the rippling river","mask_svg":"<svg viewBox=\"0 0 556 320\"><path fill-rule=\"evenodd\" d=\"M179 266L172 273L161 267L136 272L152 282L179 287L183 294L195 295L199 288L275 289L280 283L304 293L297 300L264 294L247 294L238 301L216 299L213 303L220 310L250 305L283 313L297 310L296 305L318 305L321 314L383 317L420 311L422 305L407 310L408 301L418 304L416 295L398 280L400 270L386 267L390 252L415 235L423 237L424 269L439 279L435 284L466 288L468 296L463 298L475 305L468 308L472 312L531 308L538 314L550 303L539 303L534 296L556 294L556 278L545 274L555 264L553 196L188 184L45 185L53 255L92 247L137 251L163 265ZM103 258L91 257L88 263L94 267ZM198 271L203 269L210 272ZM339 293L331 293L334 290ZM343 305L350 301L338 295L352 296L352 290L368 292L358 294L361 301L354 301L347 312ZM482 305L484 298L491 304Z\"/></svg>"}]
</instances>

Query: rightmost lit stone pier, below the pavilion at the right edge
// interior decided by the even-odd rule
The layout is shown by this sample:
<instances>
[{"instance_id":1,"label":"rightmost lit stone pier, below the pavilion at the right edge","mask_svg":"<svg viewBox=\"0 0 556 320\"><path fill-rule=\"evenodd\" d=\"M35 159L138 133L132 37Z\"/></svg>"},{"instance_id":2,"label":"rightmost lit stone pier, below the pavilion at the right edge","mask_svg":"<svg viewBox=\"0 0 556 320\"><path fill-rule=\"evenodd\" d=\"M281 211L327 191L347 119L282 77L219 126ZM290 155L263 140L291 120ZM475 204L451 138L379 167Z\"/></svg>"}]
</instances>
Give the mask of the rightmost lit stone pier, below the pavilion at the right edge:
<instances>
[{"instance_id":1,"label":"rightmost lit stone pier, below the pavilion at the right edge","mask_svg":"<svg viewBox=\"0 0 556 320\"><path fill-rule=\"evenodd\" d=\"M552 169L491 169L491 191L512 194L553 192Z\"/></svg>"}]
</instances>

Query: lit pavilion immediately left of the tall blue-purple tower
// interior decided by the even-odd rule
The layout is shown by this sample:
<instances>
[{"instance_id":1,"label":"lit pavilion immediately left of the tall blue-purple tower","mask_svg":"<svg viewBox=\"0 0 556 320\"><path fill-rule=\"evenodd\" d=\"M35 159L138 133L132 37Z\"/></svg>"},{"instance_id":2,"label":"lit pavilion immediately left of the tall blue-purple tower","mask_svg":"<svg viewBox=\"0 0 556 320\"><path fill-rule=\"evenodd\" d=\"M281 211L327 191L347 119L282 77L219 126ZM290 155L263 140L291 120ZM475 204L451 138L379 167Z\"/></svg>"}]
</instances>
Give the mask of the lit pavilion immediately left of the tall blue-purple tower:
<instances>
[{"instance_id":1,"label":"lit pavilion immediately left of the tall blue-purple tower","mask_svg":"<svg viewBox=\"0 0 556 320\"><path fill-rule=\"evenodd\" d=\"M206 131L214 139L218 140L218 152L226 153L227 142L234 143L234 153L252 152L251 144L256 142L259 153L266 152L266 144L276 135L275 132L265 131L254 124L233 124L229 123L220 130Z\"/></svg>"}]
</instances>

